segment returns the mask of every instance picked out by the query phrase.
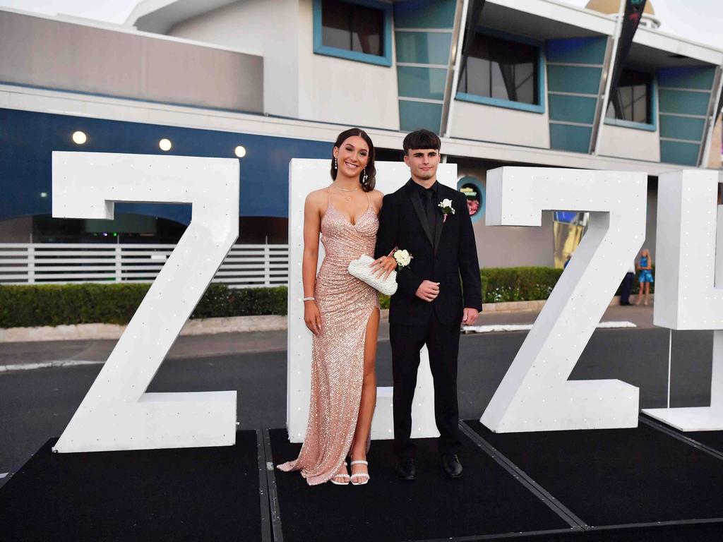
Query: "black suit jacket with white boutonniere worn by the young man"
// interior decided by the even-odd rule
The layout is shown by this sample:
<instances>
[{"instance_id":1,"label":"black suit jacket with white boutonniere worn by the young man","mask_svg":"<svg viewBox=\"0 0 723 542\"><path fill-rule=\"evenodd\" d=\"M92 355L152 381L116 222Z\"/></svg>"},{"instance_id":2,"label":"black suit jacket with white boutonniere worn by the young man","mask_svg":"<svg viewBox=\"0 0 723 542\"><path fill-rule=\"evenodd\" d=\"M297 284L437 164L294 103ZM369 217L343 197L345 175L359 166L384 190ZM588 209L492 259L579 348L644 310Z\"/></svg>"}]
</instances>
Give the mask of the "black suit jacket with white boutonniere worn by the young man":
<instances>
[{"instance_id":1,"label":"black suit jacket with white boutonniere worn by the young man","mask_svg":"<svg viewBox=\"0 0 723 542\"><path fill-rule=\"evenodd\" d=\"M440 202L451 199L455 214L442 223L442 210L437 207L434 239L414 181L409 179L384 197L375 258L386 256L395 246L413 256L408 267L397 271L398 288L389 309L391 324L427 325L434 311L441 324L458 325L464 307L482 311L479 262L466 196L439 184L437 197ZM440 295L431 303L415 295L423 280L440 283Z\"/></svg>"}]
</instances>

